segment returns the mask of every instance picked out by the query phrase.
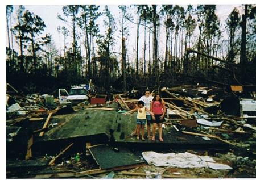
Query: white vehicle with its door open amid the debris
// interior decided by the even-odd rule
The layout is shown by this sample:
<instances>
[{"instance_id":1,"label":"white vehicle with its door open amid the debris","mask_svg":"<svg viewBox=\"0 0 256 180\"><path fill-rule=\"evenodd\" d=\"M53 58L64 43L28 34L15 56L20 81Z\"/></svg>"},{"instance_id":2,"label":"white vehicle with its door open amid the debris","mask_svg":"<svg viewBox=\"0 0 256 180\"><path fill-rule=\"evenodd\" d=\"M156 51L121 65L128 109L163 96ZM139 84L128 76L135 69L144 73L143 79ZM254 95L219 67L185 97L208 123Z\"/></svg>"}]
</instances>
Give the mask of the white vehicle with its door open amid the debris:
<instances>
[{"instance_id":1,"label":"white vehicle with its door open amid the debris","mask_svg":"<svg viewBox=\"0 0 256 180\"><path fill-rule=\"evenodd\" d=\"M65 89L59 89L59 100L61 105L77 105L85 102L89 104L88 90L86 85L71 86L69 93ZM87 101L87 102L86 102Z\"/></svg>"}]
</instances>

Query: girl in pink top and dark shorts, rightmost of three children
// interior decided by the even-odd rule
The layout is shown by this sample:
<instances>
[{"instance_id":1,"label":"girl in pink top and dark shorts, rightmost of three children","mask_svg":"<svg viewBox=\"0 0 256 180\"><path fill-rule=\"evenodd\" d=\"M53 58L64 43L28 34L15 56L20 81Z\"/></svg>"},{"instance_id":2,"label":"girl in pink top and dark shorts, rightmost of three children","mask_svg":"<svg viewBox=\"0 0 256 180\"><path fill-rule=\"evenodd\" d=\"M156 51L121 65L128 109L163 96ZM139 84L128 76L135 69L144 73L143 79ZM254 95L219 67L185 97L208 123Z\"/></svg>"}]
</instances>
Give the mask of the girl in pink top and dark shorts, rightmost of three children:
<instances>
[{"instance_id":1,"label":"girl in pink top and dark shorts, rightmost of three children","mask_svg":"<svg viewBox=\"0 0 256 180\"><path fill-rule=\"evenodd\" d=\"M151 102L150 111L155 114L155 120L153 120L153 129L152 129L152 141L155 141L155 129L156 125L158 125L159 129L159 141L163 141L162 138L162 123L166 120L164 119L164 114L166 113L166 105L164 104L164 100L161 98L161 95L158 93L155 95Z\"/></svg>"}]
</instances>

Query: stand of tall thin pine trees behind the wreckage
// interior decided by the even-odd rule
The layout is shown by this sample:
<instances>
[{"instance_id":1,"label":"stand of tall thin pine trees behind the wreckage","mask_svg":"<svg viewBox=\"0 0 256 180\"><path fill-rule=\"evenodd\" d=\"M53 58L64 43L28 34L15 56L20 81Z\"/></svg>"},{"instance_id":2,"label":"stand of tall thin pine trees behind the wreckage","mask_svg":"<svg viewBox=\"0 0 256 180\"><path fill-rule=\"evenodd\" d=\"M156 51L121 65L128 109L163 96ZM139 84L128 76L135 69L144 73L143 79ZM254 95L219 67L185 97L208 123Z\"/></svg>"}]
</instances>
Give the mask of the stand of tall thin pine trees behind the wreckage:
<instances>
[{"instance_id":1,"label":"stand of tall thin pine trees behind the wreckage","mask_svg":"<svg viewBox=\"0 0 256 180\"><path fill-rule=\"evenodd\" d=\"M118 18L108 5L103 11L97 5L67 5L63 15L52 17L67 24L56 30L64 39L59 47L44 34L40 16L7 5L6 82L26 93L69 90L90 79L101 92L172 87L195 78L255 85L256 7L241 6L242 15L234 8L222 26L216 5L119 5ZM127 40L134 46L126 46Z\"/></svg>"}]
</instances>

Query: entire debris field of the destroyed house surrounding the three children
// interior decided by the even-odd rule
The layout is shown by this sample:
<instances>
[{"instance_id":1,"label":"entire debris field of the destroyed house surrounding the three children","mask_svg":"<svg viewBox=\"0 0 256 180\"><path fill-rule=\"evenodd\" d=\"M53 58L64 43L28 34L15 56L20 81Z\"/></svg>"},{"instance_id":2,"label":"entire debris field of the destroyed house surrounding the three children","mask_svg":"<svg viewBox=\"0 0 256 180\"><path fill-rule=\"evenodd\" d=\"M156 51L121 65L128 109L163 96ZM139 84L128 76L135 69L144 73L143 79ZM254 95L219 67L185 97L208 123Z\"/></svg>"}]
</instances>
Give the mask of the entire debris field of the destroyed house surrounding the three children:
<instances>
[{"instance_id":1,"label":"entire debris field of the destroyed house surrounding the three children","mask_svg":"<svg viewBox=\"0 0 256 180\"><path fill-rule=\"evenodd\" d=\"M86 99L67 106L52 95L22 96L12 89L7 90L7 178L255 177L256 93L243 86L152 91L162 94L167 108L163 142L158 133L155 141L130 135L136 113L123 114L143 92L107 98L88 90L89 104Z\"/></svg>"}]
</instances>

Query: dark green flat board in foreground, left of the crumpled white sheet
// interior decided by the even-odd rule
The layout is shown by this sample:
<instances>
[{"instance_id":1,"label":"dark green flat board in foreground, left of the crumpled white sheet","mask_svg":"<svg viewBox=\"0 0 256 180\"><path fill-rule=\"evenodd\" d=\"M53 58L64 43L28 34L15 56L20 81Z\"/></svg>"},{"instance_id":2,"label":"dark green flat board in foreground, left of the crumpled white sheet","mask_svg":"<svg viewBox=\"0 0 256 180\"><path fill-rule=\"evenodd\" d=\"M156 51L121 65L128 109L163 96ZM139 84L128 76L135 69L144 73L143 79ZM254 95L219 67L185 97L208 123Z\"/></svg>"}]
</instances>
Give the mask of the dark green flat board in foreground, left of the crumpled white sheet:
<instances>
[{"instance_id":1,"label":"dark green flat board in foreground, left of the crumpled white sheet","mask_svg":"<svg viewBox=\"0 0 256 180\"><path fill-rule=\"evenodd\" d=\"M101 169L111 169L146 162L142 156L133 154L125 147L116 148L104 144L91 146L89 150Z\"/></svg>"}]
</instances>

